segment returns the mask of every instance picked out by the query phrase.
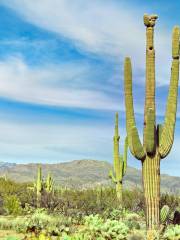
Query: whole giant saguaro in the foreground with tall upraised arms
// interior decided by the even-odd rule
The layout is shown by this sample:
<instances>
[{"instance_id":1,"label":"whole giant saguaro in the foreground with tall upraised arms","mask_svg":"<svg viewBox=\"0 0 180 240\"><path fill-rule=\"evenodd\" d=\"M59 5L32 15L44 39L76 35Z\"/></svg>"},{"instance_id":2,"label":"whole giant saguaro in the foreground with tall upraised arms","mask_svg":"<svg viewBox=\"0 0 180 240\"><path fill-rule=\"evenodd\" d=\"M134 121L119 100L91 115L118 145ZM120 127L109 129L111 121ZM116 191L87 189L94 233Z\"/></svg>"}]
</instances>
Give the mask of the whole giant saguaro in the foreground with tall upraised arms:
<instances>
[{"instance_id":1,"label":"whole giant saguaro in the foreground with tall upraised arms","mask_svg":"<svg viewBox=\"0 0 180 240\"><path fill-rule=\"evenodd\" d=\"M155 50L154 26L158 17L144 15L146 26L146 99L144 109L144 137L140 141L134 117L132 96L132 69L130 58L125 59L126 128L131 153L142 162L147 228L159 227L160 160L171 150L176 122L180 29L174 27L172 35L171 81L163 125L156 126L155 115Z\"/></svg>"}]
</instances>

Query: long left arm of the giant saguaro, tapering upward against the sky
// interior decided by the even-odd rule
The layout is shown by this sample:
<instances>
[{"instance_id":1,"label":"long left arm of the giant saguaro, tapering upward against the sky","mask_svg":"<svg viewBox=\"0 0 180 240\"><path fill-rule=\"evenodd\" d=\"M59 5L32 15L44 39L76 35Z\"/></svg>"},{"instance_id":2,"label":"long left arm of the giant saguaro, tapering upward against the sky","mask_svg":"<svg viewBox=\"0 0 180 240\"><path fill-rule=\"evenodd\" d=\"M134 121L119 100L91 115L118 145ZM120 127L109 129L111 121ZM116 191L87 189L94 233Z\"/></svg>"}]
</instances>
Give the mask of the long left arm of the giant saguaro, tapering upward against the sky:
<instances>
[{"instance_id":1,"label":"long left arm of the giant saguaro, tapering upward against the sky","mask_svg":"<svg viewBox=\"0 0 180 240\"><path fill-rule=\"evenodd\" d=\"M125 58L124 63L125 80L125 106L126 106L126 130L129 139L131 153L139 160L145 157L145 152L141 144L136 128L134 117L133 96L132 96L132 67L130 58Z\"/></svg>"}]
</instances>

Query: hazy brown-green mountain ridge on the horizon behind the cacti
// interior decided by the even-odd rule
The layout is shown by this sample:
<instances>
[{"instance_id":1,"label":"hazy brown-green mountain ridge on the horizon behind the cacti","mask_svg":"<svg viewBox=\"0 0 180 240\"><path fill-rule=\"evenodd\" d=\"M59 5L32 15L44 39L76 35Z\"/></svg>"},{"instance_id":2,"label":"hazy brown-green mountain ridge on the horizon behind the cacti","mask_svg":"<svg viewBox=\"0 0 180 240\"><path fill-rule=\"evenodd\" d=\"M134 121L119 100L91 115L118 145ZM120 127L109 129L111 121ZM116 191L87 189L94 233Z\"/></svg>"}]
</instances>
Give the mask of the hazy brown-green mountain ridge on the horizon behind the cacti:
<instances>
[{"instance_id":1,"label":"hazy brown-green mountain ridge on the horizon behind the cacti","mask_svg":"<svg viewBox=\"0 0 180 240\"><path fill-rule=\"evenodd\" d=\"M112 165L106 161L97 160L74 160L71 162L41 164L43 176L48 172L53 174L56 184L73 188L90 188L97 185L110 185L108 178ZM15 164L0 162L0 176L6 175L8 178L18 182L34 181L36 178L38 164ZM127 168L124 178L124 185L128 188L142 187L141 171ZM180 194L180 177L173 177L166 174L161 175L161 190Z\"/></svg>"}]
</instances>

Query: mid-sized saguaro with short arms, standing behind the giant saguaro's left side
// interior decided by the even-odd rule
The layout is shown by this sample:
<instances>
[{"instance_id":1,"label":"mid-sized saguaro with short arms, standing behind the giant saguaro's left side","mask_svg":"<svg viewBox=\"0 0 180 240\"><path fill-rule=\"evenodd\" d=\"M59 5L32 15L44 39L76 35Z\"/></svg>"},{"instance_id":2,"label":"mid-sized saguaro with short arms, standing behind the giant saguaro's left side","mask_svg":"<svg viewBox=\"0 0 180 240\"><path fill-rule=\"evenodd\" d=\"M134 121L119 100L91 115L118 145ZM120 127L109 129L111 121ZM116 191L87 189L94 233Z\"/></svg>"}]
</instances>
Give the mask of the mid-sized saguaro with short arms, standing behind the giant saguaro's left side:
<instances>
[{"instance_id":1,"label":"mid-sized saguaro with short arms, standing behind the giant saguaro's left side","mask_svg":"<svg viewBox=\"0 0 180 240\"><path fill-rule=\"evenodd\" d=\"M122 181L123 177L126 173L127 168L127 149L128 149L128 139L126 137L124 144L124 155L119 154L119 132L118 132L118 113L116 113L115 117L115 134L114 134L114 174L111 170L109 172L109 177L116 184L116 194L117 199L120 203L122 203Z\"/></svg>"}]
</instances>

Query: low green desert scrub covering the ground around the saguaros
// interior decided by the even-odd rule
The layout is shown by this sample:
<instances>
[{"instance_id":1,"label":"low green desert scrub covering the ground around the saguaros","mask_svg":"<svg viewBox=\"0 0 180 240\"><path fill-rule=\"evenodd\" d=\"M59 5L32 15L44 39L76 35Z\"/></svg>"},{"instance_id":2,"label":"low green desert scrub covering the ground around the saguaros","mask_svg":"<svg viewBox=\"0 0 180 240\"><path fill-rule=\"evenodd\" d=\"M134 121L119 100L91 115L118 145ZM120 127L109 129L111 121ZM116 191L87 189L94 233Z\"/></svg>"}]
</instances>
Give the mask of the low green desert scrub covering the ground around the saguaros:
<instances>
[{"instance_id":1,"label":"low green desert scrub covering the ground around the saguaros","mask_svg":"<svg viewBox=\"0 0 180 240\"><path fill-rule=\"evenodd\" d=\"M4 178L0 183L2 239L146 239L141 189L124 189L120 206L115 187L73 190L54 185L49 192L42 178L39 196L34 183ZM179 206L178 195L161 195L161 239L178 239L174 215Z\"/></svg>"}]
</instances>

